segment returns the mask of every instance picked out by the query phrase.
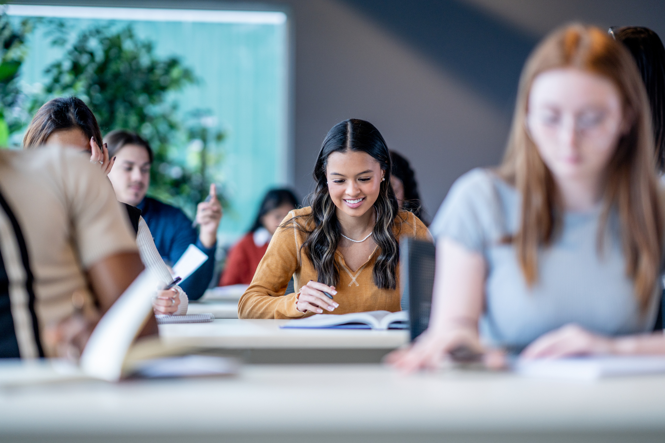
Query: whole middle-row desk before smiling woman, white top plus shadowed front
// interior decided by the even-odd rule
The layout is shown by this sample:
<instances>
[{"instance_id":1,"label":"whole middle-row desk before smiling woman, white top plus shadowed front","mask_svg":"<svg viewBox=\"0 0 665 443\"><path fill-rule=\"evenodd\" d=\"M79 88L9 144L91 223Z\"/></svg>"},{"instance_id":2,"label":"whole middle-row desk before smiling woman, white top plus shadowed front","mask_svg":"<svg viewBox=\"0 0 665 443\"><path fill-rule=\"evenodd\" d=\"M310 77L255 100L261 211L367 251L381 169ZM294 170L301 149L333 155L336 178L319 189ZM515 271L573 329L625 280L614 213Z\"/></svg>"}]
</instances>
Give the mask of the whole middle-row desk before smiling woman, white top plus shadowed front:
<instances>
[{"instance_id":1,"label":"whole middle-row desk before smiling woman, white top plus shadowed front","mask_svg":"<svg viewBox=\"0 0 665 443\"><path fill-rule=\"evenodd\" d=\"M287 320L215 319L160 325L163 343L241 357L248 363L378 363L408 331L280 329Z\"/></svg>"}]
</instances>

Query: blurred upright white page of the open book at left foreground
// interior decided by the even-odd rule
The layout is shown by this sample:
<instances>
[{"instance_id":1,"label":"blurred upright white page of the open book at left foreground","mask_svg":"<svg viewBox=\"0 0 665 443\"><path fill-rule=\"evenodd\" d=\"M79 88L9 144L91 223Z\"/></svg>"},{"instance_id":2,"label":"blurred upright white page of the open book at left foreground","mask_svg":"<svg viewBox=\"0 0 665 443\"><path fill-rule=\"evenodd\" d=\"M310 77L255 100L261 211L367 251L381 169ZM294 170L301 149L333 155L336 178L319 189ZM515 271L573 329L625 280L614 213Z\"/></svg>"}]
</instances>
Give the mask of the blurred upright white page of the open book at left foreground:
<instances>
[{"instance_id":1,"label":"blurred upright white page of the open book at left foreground","mask_svg":"<svg viewBox=\"0 0 665 443\"><path fill-rule=\"evenodd\" d=\"M127 350L152 312L160 282L143 271L97 323L80 359L86 375L118 381Z\"/></svg>"}]
</instances>

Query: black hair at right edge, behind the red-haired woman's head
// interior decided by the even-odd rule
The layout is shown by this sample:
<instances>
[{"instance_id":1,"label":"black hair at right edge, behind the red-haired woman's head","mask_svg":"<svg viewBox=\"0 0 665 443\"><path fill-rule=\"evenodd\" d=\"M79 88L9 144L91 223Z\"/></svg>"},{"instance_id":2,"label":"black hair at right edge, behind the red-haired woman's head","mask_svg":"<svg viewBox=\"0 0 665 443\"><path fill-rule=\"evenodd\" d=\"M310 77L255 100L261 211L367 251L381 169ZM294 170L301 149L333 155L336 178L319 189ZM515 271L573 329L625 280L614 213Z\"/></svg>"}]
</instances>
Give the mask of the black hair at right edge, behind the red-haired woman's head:
<instances>
[{"instance_id":1,"label":"black hair at right edge, behind the red-haired woman's head","mask_svg":"<svg viewBox=\"0 0 665 443\"><path fill-rule=\"evenodd\" d=\"M612 28L616 40L628 48L637 63L651 106L656 165L665 171L665 48L658 34L648 28Z\"/></svg>"}]
</instances>

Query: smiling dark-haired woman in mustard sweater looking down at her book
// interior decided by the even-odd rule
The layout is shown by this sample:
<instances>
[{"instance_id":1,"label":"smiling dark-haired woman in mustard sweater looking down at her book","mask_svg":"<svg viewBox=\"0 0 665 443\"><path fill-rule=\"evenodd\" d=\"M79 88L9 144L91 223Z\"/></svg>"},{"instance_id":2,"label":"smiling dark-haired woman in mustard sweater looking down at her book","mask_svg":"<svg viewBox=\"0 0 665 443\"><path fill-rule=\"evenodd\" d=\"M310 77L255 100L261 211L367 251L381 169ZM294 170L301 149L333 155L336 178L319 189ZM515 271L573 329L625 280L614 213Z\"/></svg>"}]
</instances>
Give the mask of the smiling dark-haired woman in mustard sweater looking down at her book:
<instances>
[{"instance_id":1,"label":"smiling dark-haired woman in mustard sweater looking down at her book","mask_svg":"<svg viewBox=\"0 0 665 443\"><path fill-rule=\"evenodd\" d=\"M238 316L399 311L398 238L431 236L412 213L399 211L390 167L372 124L336 124L319 151L311 206L291 211L273 235ZM291 276L296 292L285 294Z\"/></svg>"}]
</instances>

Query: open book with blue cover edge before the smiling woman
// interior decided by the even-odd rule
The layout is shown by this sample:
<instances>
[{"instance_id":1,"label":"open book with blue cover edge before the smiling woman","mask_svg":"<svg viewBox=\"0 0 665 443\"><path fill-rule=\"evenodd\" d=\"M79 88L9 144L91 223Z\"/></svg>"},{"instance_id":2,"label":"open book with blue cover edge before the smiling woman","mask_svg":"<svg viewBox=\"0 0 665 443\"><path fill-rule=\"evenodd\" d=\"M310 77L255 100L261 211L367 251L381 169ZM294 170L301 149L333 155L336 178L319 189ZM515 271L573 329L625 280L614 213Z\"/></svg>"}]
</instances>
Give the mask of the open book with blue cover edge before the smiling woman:
<instances>
[{"instance_id":1,"label":"open book with blue cover edge before the smiling woman","mask_svg":"<svg viewBox=\"0 0 665 443\"><path fill-rule=\"evenodd\" d=\"M408 329L408 312L369 311L334 315L317 313L311 317L291 320L280 327L312 329L334 327L338 329Z\"/></svg>"}]
</instances>

